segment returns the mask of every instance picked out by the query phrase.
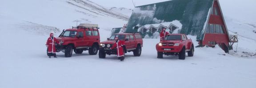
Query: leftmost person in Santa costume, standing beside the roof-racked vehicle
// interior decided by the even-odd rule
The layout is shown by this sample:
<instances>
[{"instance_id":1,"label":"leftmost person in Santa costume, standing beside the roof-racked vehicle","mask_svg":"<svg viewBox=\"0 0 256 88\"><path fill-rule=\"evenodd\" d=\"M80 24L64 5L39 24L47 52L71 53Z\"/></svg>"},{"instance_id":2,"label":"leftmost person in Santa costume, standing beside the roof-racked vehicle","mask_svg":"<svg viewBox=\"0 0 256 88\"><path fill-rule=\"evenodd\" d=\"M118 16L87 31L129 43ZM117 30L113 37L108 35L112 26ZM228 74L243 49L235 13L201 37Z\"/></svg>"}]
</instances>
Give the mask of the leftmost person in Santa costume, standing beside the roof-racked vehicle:
<instances>
[{"instance_id":1,"label":"leftmost person in Santa costume, standing beside the roof-racked vehicle","mask_svg":"<svg viewBox=\"0 0 256 88\"><path fill-rule=\"evenodd\" d=\"M55 43L60 44L59 40L57 40L55 37L53 37L53 33L51 33L50 37L48 38L48 40L46 42L46 46L48 48L47 55L49 56L49 58L51 58L51 56L54 56L54 58L57 58Z\"/></svg>"}]
</instances>

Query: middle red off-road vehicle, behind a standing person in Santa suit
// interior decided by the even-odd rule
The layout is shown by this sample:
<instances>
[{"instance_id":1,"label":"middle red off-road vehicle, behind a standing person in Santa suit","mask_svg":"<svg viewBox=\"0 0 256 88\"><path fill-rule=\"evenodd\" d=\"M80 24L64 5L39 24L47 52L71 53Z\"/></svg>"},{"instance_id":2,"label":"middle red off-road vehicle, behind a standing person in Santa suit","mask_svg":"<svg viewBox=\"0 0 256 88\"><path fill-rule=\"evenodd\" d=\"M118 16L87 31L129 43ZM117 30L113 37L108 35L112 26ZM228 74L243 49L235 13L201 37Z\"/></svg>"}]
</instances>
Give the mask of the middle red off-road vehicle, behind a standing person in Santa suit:
<instances>
[{"instance_id":1,"label":"middle red off-road vehicle, behind a standing person in Santa suit","mask_svg":"<svg viewBox=\"0 0 256 88\"><path fill-rule=\"evenodd\" d=\"M116 49L110 49L116 41L115 37L119 40L124 40L124 54L133 51L134 56L141 55L141 47L143 47L143 40L139 33L116 33L113 34L108 40L100 43L99 58L106 58L106 55L116 55Z\"/></svg>"}]
</instances>

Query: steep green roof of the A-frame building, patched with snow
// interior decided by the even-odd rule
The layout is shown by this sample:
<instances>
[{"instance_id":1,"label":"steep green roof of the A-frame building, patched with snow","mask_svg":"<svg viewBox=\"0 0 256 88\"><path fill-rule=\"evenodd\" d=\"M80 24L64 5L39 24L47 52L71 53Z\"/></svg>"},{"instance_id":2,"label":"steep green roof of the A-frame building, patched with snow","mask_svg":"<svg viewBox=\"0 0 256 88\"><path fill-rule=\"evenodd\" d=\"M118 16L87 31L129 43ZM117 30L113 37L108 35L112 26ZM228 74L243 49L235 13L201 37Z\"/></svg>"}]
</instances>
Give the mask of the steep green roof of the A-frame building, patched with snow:
<instances>
[{"instance_id":1,"label":"steep green roof of the A-frame building, patched with snow","mask_svg":"<svg viewBox=\"0 0 256 88\"><path fill-rule=\"evenodd\" d=\"M137 32L135 26L180 21L180 33L196 35L203 40L204 28L214 0L170 0L138 6L134 9L125 32Z\"/></svg>"}]
</instances>

